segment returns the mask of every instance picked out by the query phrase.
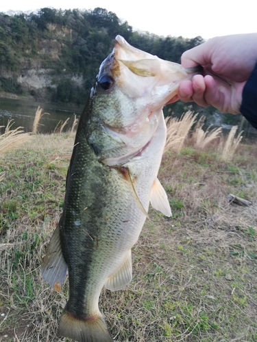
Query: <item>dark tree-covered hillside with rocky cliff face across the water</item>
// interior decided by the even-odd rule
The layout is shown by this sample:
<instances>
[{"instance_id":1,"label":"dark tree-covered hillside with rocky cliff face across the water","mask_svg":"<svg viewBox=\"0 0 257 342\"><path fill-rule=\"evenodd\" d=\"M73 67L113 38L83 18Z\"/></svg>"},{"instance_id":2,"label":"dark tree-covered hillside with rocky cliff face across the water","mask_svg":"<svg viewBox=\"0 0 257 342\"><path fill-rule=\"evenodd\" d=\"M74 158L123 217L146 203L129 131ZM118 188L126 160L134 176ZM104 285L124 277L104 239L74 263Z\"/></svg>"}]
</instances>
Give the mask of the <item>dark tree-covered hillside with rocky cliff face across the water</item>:
<instances>
[{"instance_id":1,"label":"dark tree-covered hillside with rocky cliff face across the water","mask_svg":"<svg viewBox=\"0 0 257 342\"><path fill-rule=\"evenodd\" d=\"M0 96L83 105L117 34L138 49L178 63L184 51L204 42L200 36L188 39L135 31L103 8L0 13ZM204 114L208 124L243 127L241 116L180 101L165 107L164 114L181 116L187 109Z\"/></svg>"}]
</instances>

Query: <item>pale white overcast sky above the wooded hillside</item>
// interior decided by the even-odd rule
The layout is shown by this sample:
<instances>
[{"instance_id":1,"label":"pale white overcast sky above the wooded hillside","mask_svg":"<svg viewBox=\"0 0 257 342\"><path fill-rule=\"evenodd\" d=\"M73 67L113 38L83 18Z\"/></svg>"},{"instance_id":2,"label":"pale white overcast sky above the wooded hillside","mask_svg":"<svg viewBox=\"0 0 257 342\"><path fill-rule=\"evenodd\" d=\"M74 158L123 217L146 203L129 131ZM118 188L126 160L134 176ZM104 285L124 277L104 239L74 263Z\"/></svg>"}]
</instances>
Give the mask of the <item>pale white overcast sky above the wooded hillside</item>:
<instances>
[{"instance_id":1,"label":"pale white overcast sky above the wooded hillside","mask_svg":"<svg viewBox=\"0 0 257 342\"><path fill-rule=\"evenodd\" d=\"M106 8L134 29L158 36L209 39L257 32L254 0L1 0L0 12L44 7L82 10Z\"/></svg>"}]
</instances>

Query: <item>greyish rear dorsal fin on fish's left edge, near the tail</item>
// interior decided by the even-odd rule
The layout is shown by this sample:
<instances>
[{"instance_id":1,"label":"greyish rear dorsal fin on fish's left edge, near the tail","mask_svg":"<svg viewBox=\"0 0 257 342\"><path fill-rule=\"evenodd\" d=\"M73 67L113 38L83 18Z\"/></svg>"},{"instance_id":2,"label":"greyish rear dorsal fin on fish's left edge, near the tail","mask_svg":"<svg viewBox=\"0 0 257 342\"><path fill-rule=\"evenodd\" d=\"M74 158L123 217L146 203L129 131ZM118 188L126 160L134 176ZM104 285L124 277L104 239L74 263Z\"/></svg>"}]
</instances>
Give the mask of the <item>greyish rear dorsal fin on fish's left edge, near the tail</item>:
<instances>
[{"instance_id":1,"label":"greyish rear dorsal fin on fish's left edge, near the tail","mask_svg":"<svg viewBox=\"0 0 257 342\"><path fill-rule=\"evenodd\" d=\"M62 255L60 226L58 225L42 259L41 274L42 278L59 292L65 280L66 272L67 265Z\"/></svg>"}]
</instances>

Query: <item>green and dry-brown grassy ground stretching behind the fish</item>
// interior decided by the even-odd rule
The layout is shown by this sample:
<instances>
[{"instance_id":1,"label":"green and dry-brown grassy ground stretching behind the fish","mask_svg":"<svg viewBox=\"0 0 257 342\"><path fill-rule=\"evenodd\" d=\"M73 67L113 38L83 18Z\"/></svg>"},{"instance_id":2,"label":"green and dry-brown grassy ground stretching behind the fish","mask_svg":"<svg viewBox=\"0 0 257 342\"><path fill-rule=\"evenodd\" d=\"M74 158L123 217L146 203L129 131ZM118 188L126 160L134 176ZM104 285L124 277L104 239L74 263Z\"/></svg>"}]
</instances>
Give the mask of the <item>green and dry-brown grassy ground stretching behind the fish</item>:
<instances>
[{"instance_id":1,"label":"green and dry-brown grassy ground stretching behind the fish","mask_svg":"<svg viewBox=\"0 0 257 342\"><path fill-rule=\"evenodd\" d=\"M132 251L132 282L101 294L114 341L257 341L256 144L240 143L222 161L218 145L199 150L191 139L165 153L160 168L173 218L149 210ZM73 140L36 135L0 155L3 342L69 341L56 337L67 283L53 291L40 263L62 211ZM229 205L230 193L254 205Z\"/></svg>"}]
</instances>

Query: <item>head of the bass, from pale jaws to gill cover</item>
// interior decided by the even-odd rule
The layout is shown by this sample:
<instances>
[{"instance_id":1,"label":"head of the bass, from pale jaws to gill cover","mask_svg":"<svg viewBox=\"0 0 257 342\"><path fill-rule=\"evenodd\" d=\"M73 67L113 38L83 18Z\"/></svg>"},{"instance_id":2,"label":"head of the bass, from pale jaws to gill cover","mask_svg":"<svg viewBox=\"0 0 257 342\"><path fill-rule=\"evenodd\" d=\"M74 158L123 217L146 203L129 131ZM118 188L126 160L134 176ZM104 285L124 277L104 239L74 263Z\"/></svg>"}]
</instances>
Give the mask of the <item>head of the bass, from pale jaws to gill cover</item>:
<instances>
[{"instance_id":1,"label":"head of the bass, from pale jaws to gill cover","mask_svg":"<svg viewBox=\"0 0 257 342\"><path fill-rule=\"evenodd\" d=\"M87 139L99 161L121 165L140 153L154 136L160 110L191 75L180 64L140 51L117 36L90 98L94 106Z\"/></svg>"}]
</instances>

